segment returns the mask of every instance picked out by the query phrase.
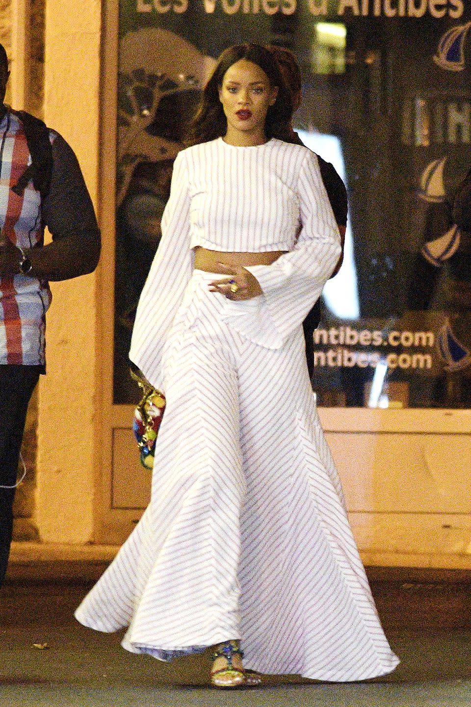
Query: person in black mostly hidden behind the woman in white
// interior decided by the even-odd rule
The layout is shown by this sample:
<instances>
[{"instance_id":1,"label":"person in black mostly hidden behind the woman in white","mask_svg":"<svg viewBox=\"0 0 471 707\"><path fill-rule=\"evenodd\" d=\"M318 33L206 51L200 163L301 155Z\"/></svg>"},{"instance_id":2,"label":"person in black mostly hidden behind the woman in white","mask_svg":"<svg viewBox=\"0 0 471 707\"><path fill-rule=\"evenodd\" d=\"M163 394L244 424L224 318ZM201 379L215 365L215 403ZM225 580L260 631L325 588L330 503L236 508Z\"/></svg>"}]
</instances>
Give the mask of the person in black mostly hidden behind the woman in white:
<instances>
[{"instance_id":1,"label":"person in black mostly hidden behind the woman in white","mask_svg":"<svg viewBox=\"0 0 471 707\"><path fill-rule=\"evenodd\" d=\"M299 70L299 64L294 56L293 52L286 47L278 47L277 45L270 45L268 47L270 52L275 57L283 80L285 81L286 88L290 91L292 95L292 103L294 106L293 112L299 108L302 100L302 79L301 71ZM299 138L299 135L292 129L292 142L302 145L303 142ZM340 270L343 260L343 248L345 245L345 231L347 230L347 213L348 213L348 201L347 201L347 189L340 179L338 173L336 172L334 166L330 162L323 160L320 155L317 156L319 168L321 170L321 177L326 187L326 192L328 199L330 201L330 206L332 206L332 211L335 216L335 221L337 222L338 230L340 231L340 237L342 239L342 255L338 261L337 267L333 271L331 277L334 277ZM314 373L314 339L313 332L314 329L318 327L319 321L321 320L321 303L319 300L316 302L314 307L306 316L303 322L304 329L304 339L306 341L306 359L307 368L309 370L309 376L312 378Z\"/></svg>"}]
</instances>

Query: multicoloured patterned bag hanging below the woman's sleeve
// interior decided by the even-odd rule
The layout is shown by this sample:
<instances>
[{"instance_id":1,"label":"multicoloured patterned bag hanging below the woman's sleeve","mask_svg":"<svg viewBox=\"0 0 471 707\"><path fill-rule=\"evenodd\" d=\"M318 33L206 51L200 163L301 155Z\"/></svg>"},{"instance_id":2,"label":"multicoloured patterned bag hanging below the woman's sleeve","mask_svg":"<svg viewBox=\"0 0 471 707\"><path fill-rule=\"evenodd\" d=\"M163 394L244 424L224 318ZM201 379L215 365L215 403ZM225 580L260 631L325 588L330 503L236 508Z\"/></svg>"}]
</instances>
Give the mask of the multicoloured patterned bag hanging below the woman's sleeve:
<instances>
[{"instance_id":1,"label":"multicoloured patterned bag hanging below the woman's sleeve","mask_svg":"<svg viewBox=\"0 0 471 707\"><path fill-rule=\"evenodd\" d=\"M133 433L141 450L141 464L145 469L152 469L155 440L165 410L165 395L160 390L155 390L142 374L131 370L131 377L143 390L143 397L134 410Z\"/></svg>"}]
</instances>

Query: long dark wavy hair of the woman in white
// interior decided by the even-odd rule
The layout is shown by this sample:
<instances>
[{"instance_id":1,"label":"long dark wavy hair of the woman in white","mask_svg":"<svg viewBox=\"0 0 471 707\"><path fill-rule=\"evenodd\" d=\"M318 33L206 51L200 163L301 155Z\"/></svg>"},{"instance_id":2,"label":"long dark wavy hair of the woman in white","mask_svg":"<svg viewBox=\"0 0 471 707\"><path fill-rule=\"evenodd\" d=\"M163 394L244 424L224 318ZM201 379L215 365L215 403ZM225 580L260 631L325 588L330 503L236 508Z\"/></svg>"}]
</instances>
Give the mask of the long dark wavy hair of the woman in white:
<instances>
[{"instance_id":1,"label":"long dark wavy hair of the woman in white","mask_svg":"<svg viewBox=\"0 0 471 707\"><path fill-rule=\"evenodd\" d=\"M235 45L225 49L217 59L217 66L206 84L201 96L196 115L194 116L185 140L185 146L198 145L214 140L227 132L227 118L222 103L219 100L219 89L222 79L232 64L246 59L265 71L270 86L278 86L275 103L270 105L265 120L265 134L268 139L275 137L290 142L290 121L292 117L292 97L282 80L278 64L271 52L256 44Z\"/></svg>"}]
</instances>

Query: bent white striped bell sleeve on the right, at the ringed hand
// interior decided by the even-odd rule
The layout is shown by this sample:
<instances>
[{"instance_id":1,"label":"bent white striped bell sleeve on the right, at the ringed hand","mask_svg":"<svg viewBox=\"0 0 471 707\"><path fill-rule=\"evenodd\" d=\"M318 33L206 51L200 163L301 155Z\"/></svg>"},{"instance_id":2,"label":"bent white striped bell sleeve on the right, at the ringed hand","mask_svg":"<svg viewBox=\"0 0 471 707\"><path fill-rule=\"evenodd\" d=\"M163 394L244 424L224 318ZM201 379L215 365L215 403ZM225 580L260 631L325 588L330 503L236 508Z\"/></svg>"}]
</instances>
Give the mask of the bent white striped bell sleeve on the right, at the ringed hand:
<instances>
[{"instance_id":1,"label":"bent white striped bell sleeve on the right, at the ringed hand","mask_svg":"<svg viewBox=\"0 0 471 707\"><path fill-rule=\"evenodd\" d=\"M297 194L300 231L294 249L271 265L246 267L263 292L257 343L270 349L280 349L302 324L321 295L341 252L340 233L317 157L311 151L304 157L299 172ZM234 322L239 328L242 318L234 317ZM254 329L251 334L253 338Z\"/></svg>"}]
</instances>

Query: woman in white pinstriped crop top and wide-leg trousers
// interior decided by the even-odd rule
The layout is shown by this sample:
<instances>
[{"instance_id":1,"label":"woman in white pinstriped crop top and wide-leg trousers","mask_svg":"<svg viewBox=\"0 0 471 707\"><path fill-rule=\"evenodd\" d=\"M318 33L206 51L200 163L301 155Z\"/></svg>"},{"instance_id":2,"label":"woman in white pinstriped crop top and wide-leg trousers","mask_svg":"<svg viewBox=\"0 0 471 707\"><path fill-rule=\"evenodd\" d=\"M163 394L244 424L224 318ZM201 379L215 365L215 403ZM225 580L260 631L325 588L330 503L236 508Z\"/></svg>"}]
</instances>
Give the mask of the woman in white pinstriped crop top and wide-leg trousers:
<instances>
[{"instance_id":1,"label":"woman in white pinstriped crop top and wide-leg trousers","mask_svg":"<svg viewBox=\"0 0 471 707\"><path fill-rule=\"evenodd\" d=\"M316 156L282 140L290 114L270 52L223 52L175 160L131 344L167 397L150 505L76 612L128 626L124 648L161 660L215 646L223 687L398 664L306 368L302 321L340 236Z\"/></svg>"}]
</instances>

